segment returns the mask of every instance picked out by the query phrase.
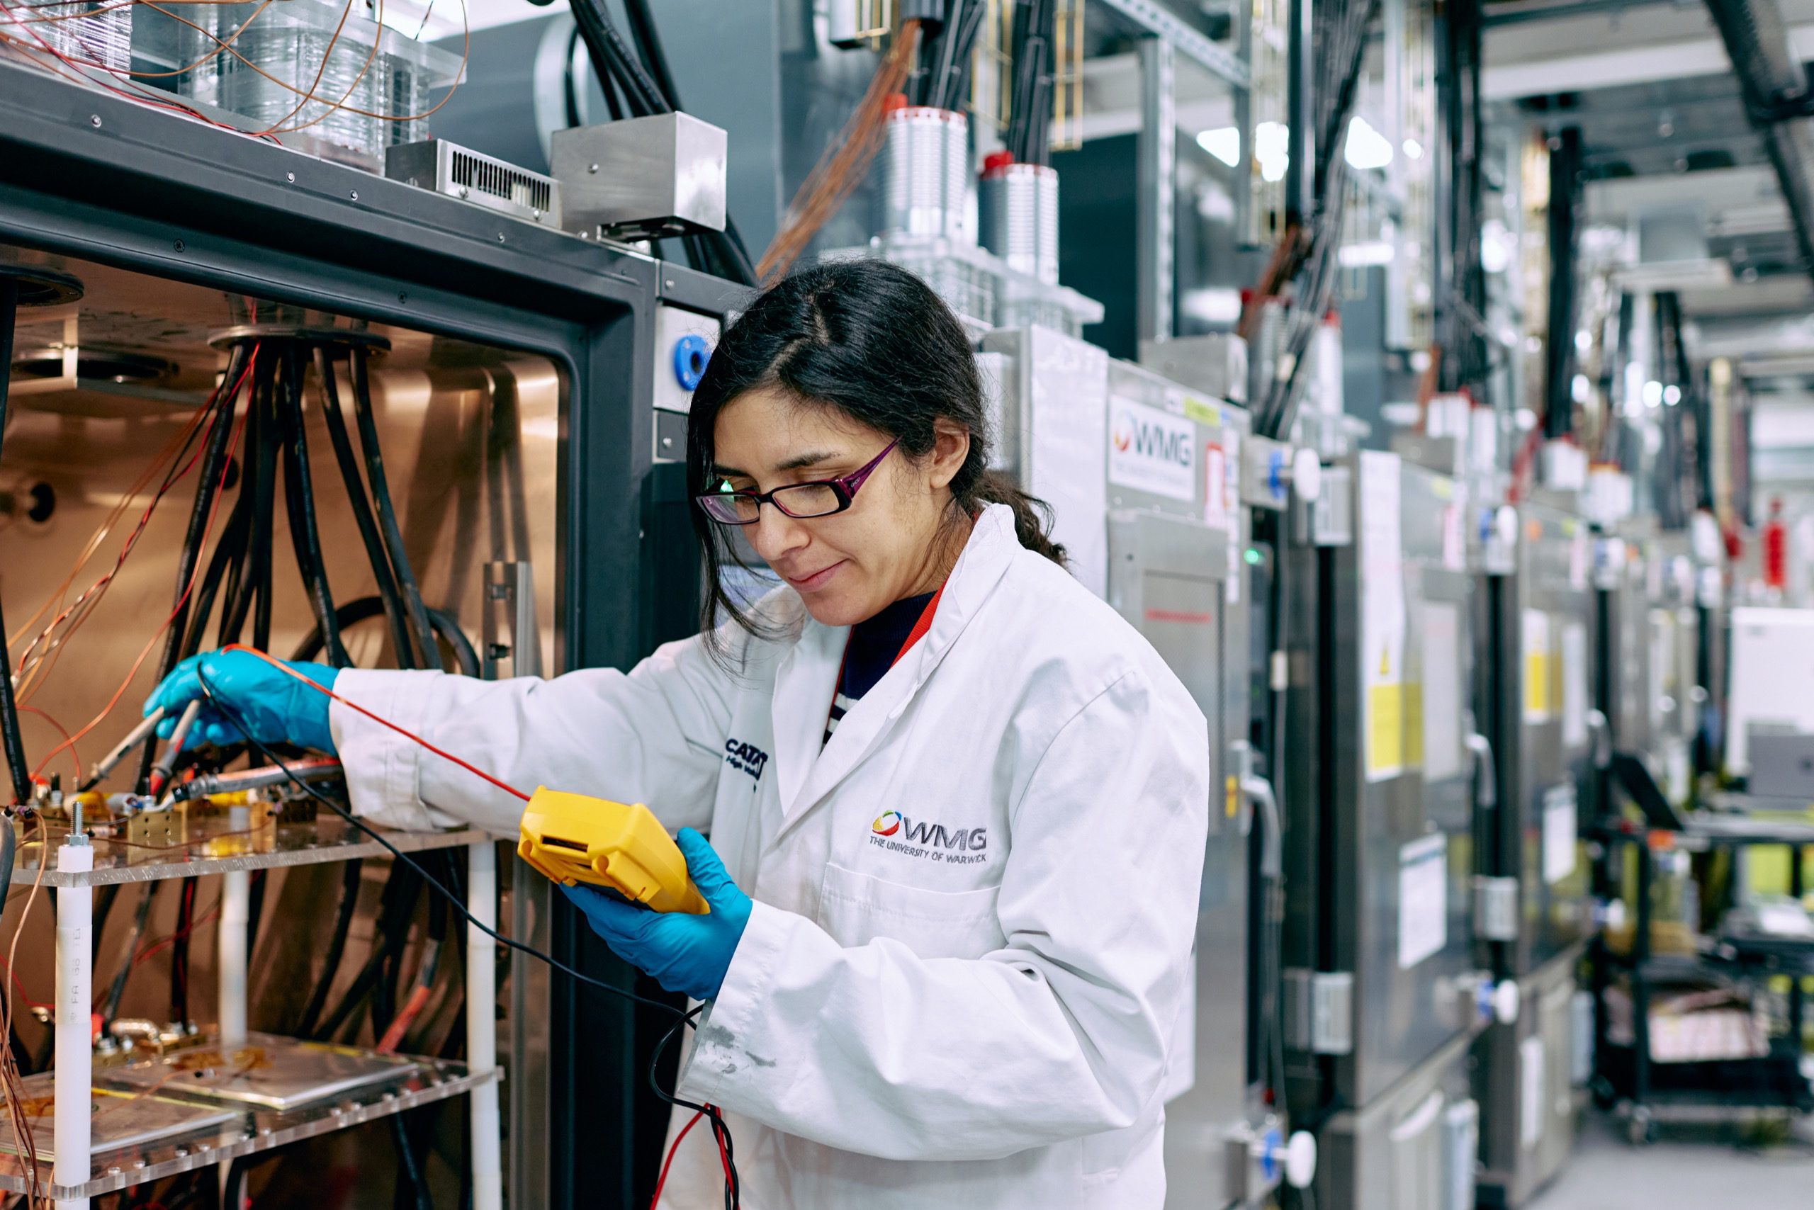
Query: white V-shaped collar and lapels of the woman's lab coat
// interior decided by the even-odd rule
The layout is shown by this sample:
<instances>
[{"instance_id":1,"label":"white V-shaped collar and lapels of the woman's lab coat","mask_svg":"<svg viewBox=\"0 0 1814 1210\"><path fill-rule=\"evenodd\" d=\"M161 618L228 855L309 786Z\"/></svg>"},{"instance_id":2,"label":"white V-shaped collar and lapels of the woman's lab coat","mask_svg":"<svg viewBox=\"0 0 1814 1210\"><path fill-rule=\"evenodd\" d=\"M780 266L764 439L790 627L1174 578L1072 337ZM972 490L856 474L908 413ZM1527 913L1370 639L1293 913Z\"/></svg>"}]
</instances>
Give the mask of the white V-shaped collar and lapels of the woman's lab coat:
<instances>
[{"instance_id":1,"label":"white V-shaped collar and lapels of the woman's lab coat","mask_svg":"<svg viewBox=\"0 0 1814 1210\"><path fill-rule=\"evenodd\" d=\"M851 628L822 626L805 615L800 639L775 673L775 764L782 800L782 825L775 840L824 802L882 742L996 590L1019 550L1014 512L1005 504L989 504L970 526L970 537L945 581L945 593L925 639L851 707L824 749L820 740Z\"/></svg>"}]
</instances>

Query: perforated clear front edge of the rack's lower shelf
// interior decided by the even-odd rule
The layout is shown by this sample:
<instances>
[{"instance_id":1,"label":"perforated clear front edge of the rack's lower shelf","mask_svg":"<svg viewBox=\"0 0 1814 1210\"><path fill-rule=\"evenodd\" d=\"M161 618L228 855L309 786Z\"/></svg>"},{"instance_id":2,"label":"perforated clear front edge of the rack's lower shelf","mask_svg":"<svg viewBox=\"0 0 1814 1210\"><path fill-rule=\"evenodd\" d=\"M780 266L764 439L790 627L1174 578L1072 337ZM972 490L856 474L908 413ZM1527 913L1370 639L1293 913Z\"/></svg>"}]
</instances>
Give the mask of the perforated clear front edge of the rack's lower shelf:
<instances>
[{"instance_id":1,"label":"perforated clear front edge of the rack's lower shelf","mask_svg":"<svg viewBox=\"0 0 1814 1210\"><path fill-rule=\"evenodd\" d=\"M399 1079L348 1092L290 1112L268 1108L236 1110L232 1121L200 1134L172 1136L147 1145L131 1145L91 1154L91 1179L83 1185L53 1185L53 1161L40 1159L38 1174L53 1201L100 1197L145 1181L229 1163L239 1156L268 1152L317 1134L345 1130L366 1121L401 1114L421 1105L444 1101L473 1088L497 1083L499 1069L473 1072L463 1063L414 1059L399 1069ZM15 1156L0 1156L0 1190L24 1194L24 1165Z\"/></svg>"}]
</instances>

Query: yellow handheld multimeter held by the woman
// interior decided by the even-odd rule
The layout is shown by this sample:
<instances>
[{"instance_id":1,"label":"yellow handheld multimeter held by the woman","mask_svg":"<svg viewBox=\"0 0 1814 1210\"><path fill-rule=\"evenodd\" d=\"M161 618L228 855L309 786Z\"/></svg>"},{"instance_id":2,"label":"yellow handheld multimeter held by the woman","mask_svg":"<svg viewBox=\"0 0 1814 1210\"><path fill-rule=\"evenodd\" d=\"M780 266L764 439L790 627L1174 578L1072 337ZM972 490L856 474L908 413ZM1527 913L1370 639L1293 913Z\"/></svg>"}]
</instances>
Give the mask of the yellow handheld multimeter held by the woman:
<instances>
[{"instance_id":1,"label":"yellow handheld multimeter held by the woman","mask_svg":"<svg viewBox=\"0 0 1814 1210\"><path fill-rule=\"evenodd\" d=\"M571 887L608 887L658 912L704 914L686 858L646 805L541 786L522 813L517 854Z\"/></svg>"}]
</instances>

